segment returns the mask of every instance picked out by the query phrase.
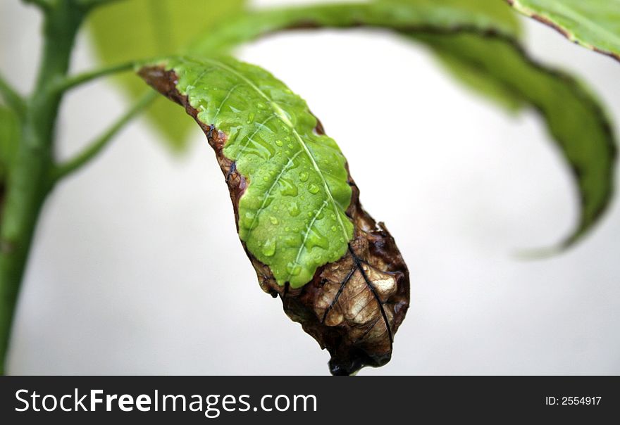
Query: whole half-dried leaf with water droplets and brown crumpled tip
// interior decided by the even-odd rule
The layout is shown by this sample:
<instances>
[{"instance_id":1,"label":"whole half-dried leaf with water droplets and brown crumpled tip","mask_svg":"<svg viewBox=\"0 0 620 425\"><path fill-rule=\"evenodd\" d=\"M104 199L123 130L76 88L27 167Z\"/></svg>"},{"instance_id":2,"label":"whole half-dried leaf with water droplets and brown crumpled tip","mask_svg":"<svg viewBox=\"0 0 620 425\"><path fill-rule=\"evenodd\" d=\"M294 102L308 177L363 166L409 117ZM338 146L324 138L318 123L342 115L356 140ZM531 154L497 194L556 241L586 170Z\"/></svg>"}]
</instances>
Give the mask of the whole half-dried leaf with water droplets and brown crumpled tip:
<instances>
[{"instance_id":1,"label":"whole half-dried leaf with water droplets and brown crumpled tip","mask_svg":"<svg viewBox=\"0 0 620 425\"><path fill-rule=\"evenodd\" d=\"M203 129L261 288L330 352L330 372L388 362L409 306L409 272L306 103L228 57L168 58L138 72Z\"/></svg>"}]
</instances>

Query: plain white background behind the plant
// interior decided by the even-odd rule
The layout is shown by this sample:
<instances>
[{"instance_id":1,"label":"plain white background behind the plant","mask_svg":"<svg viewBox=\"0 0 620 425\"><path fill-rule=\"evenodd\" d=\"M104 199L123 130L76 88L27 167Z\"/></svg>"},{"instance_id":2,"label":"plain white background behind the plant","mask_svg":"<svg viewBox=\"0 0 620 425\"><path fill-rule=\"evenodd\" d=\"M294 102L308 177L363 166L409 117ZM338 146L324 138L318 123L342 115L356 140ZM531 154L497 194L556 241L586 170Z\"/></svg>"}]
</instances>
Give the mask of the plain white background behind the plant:
<instances>
[{"instance_id":1,"label":"plain white background behind the plant","mask_svg":"<svg viewBox=\"0 0 620 425\"><path fill-rule=\"evenodd\" d=\"M39 23L34 8L1 1L0 68L22 91L34 77ZM574 70L620 120L620 63L538 23L526 29L536 58ZM423 47L380 32L285 34L240 56L308 101L409 265L411 308L392 362L361 374L620 373L618 203L568 253L514 255L561 240L577 217L571 179L537 115L507 115ZM76 71L95 65L84 34L74 59ZM111 84L75 91L58 156L124 108ZM135 122L46 203L11 374L326 374L327 361L259 288L198 128L190 152L175 158Z\"/></svg>"}]
</instances>

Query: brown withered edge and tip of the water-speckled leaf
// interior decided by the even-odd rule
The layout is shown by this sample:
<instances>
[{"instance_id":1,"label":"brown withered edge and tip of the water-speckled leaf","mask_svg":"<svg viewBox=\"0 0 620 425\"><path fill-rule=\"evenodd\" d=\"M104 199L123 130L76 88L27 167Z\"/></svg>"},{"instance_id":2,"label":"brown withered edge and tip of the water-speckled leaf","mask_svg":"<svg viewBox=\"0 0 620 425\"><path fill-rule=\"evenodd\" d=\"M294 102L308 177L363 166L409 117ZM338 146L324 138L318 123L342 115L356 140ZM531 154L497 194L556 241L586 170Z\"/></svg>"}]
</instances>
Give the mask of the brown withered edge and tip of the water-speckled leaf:
<instances>
[{"instance_id":1,"label":"brown withered edge and tip of the water-speckled leaf","mask_svg":"<svg viewBox=\"0 0 620 425\"><path fill-rule=\"evenodd\" d=\"M238 205L247 180L223 155L226 134L198 120L198 110L176 89L178 77L173 70L149 66L138 73L151 87L184 106L206 134L228 184L238 231ZM315 131L324 134L321 122L317 123ZM348 183L352 199L347 216L354 224L354 238L340 260L317 269L302 288L279 286L271 269L254 258L242 241L263 291L280 296L288 317L329 351L329 369L334 375L350 375L362 367L389 362L394 334L409 308L407 265L385 224L376 223L361 208L359 189L350 174Z\"/></svg>"}]
</instances>

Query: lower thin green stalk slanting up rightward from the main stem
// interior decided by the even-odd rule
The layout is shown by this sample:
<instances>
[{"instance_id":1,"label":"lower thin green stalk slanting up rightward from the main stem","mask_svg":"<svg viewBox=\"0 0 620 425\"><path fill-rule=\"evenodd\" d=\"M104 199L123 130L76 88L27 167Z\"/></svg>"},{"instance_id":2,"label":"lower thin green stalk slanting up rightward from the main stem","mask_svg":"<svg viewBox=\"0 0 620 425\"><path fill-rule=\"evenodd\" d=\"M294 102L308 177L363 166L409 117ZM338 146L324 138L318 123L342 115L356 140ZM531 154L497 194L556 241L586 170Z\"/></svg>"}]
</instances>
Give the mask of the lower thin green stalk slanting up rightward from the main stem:
<instances>
[{"instance_id":1,"label":"lower thin green stalk slanting up rightward from the main stem","mask_svg":"<svg viewBox=\"0 0 620 425\"><path fill-rule=\"evenodd\" d=\"M118 118L101 136L92 141L82 152L78 153L75 158L71 158L66 163L58 165L52 171L52 179L54 182L67 177L75 170L79 170L83 165L86 165L90 160L96 157L101 151L108 146L112 139L127 125L133 118L139 115L144 109L148 108L151 103L158 97L156 91L149 91L142 96L142 99L137 101L125 115Z\"/></svg>"}]
</instances>

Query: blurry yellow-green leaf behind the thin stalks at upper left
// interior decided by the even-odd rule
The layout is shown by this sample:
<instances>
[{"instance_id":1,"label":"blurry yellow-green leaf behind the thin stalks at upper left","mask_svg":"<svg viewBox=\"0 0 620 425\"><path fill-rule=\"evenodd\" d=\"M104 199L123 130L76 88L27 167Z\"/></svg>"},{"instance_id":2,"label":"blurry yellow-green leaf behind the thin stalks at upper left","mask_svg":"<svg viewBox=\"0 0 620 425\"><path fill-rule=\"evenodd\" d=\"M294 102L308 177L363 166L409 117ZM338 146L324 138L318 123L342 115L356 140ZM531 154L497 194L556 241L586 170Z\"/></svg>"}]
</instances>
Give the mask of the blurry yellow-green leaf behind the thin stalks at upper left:
<instances>
[{"instance_id":1,"label":"blurry yellow-green leaf behind the thin stalks at upper left","mask_svg":"<svg viewBox=\"0 0 620 425\"><path fill-rule=\"evenodd\" d=\"M101 62L107 65L179 53L198 34L239 13L244 0L127 0L97 8L89 30ZM132 97L144 93L134 75L116 81ZM176 150L187 144L191 122L179 108L158 101L147 117Z\"/></svg>"}]
</instances>

